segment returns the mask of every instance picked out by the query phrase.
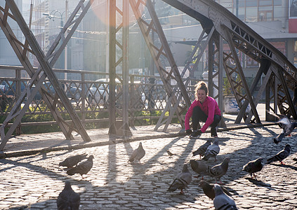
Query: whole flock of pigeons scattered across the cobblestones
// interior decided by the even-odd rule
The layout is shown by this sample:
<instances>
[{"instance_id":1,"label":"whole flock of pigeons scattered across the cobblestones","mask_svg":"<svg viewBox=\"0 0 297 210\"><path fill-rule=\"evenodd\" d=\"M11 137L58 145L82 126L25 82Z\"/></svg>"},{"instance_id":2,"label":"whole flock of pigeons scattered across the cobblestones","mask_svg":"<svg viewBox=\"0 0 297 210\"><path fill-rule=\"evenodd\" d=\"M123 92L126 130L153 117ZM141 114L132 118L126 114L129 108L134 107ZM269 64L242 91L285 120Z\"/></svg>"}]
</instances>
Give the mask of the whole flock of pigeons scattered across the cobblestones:
<instances>
[{"instance_id":1,"label":"whole flock of pigeons scattered across the cobblestones","mask_svg":"<svg viewBox=\"0 0 297 210\"><path fill-rule=\"evenodd\" d=\"M279 117L279 116L278 116ZM290 120L286 116L279 117L279 121L277 122L279 127L282 127L283 131L277 137L273 139L275 144L279 144L280 141L286 136L289 136L293 129L297 127L297 123L291 123ZM213 144L211 144L211 140L206 141L205 144L200 146L197 151L192 153L193 156L199 155L202 160L190 160L190 166L194 172L202 176L202 180L199 182L199 186L202 188L203 192L207 197L213 200L213 206L215 209L237 209L235 201L232 199L232 195L228 192L226 188L220 186L218 181L220 178L224 176L227 172L228 165L230 162L230 158L226 157L223 162L218 165L214 165L210 167L207 164L207 160L209 158L214 158L216 161L216 156L220 152L220 146L218 145L219 140L215 139ZM291 146L286 144L282 151L279 151L276 155L271 158L268 158L267 164L275 161L279 161L283 164L283 160L289 156L291 152ZM172 156L173 153L167 151L169 156ZM72 176L74 174L80 174L82 179L84 179L83 175L87 174L91 168L93 167L93 155L90 155L87 160L85 154L82 155L74 155L69 158L66 158L64 161L59 163L59 167L67 167L67 174ZM131 156L128 162L138 162L145 156L145 150L143 149L143 145L140 142L138 148L131 153ZM297 161L297 158L293 160ZM297 163L297 162L296 162ZM260 172L263 169L263 158L258 158L256 160L252 160L246 165L243 166L242 171L248 172L251 175L251 179L256 179L255 173ZM204 181L204 176L212 176L216 183L211 184L207 181ZM187 169L187 164L183 165L183 170L179 174L177 174L176 178L169 186L168 191L175 191L177 189L180 190L180 194L183 194L183 190L190 184L192 181L192 174L190 174ZM221 181L220 181L220 184ZM58 209L79 209L80 197L78 193L75 193L71 188L70 181L65 182L65 188L58 195L57 206Z\"/></svg>"}]
</instances>

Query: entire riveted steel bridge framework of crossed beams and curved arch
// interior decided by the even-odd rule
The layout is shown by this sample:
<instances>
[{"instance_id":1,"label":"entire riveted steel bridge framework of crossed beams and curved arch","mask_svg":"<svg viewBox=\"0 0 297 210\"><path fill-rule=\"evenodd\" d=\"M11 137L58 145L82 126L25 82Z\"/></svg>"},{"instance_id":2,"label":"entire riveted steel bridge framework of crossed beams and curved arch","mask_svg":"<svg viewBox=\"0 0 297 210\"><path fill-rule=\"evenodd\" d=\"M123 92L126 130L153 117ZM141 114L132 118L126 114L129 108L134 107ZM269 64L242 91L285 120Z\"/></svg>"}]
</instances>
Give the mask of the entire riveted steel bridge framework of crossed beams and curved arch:
<instances>
[{"instance_id":1,"label":"entire riveted steel bridge framework of crossed beams and curved arch","mask_svg":"<svg viewBox=\"0 0 297 210\"><path fill-rule=\"evenodd\" d=\"M296 110L292 102L290 90L296 87L296 72L297 69L288 59L273 47L268 41L259 36L253 29L244 24L229 10L223 8L215 1L209 0L162 0L169 3L171 6L183 11L192 18L198 20L203 28L202 34L197 37L192 53L187 60L182 72L178 70L173 54L166 41L166 36L161 27L157 13L151 0L129 0L119 1L110 0L110 97L109 97L109 125L110 134L119 134L122 137L131 136L128 118L128 17L129 6L133 10L136 17L140 31L143 34L147 48L150 50L154 64L161 76L164 84L164 89L169 97L166 103L166 108L161 114L155 130L163 126L163 130L171 123L173 116L177 117L180 125L184 127L184 114L190 107L191 100L188 94L188 85L190 83L190 76L192 69L190 63L196 60L194 65L197 65L202 57L202 54L207 49L209 53L209 95L218 99L220 109L223 110L223 71L229 80L232 92L235 94L235 99L239 106L239 114L235 123L240 123L244 119L244 123L261 123L258 116L256 106L260 100L263 92L266 92L266 109L270 112L280 113L297 118ZM119 3L120 2L120 3ZM13 134L13 131L18 127L22 116L29 108L34 95L37 91L41 92L41 96L51 110L53 117L60 126L66 139L73 139L72 131L81 135L84 141L91 141L86 133L81 119L75 113L70 100L66 97L65 92L59 85L58 78L53 72L53 64L57 61L63 48L67 45L70 37L77 29L79 22L90 8L93 0L81 0L77 4L69 19L61 29L60 34L55 39L54 44L44 54L41 47L37 43L34 34L29 30L27 24L22 18L22 14L18 6L13 0L6 0L5 6L0 6L0 27L4 31L6 38L15 54L18 56L22 66L29 74L30 80L22 91L11 113L6 117L4 123L0 127L1 144L0 150L3 151L8 139ZM146 8L149 12L150 18L143 19L143 10ZM116 18L121 16L121 18ZM8 21L9 19L9 21ZM18 23L18 27L25 36L25 41L20 41L13 34L10 27L10 21ZM158 41L152 41L152 33ZM121 37L121 38L119 38ZM230 47L230 52L223 50L223 43L227 43ZM121 56L116 53L116 49L121 50ZM246 83L242 65L237 56L237 51L240 50L260 64L253 83L249 86ZM27 52L32 53L37 57L39 68L36 70L32 67L27 57ZM166 69L164 61L166 60L171 68ZM121 69L121 73L117 73L116 69ZM187 74L186 74L187 73ZM185 75L189 75L185 78ZM260 86L258 95L252 97L256 85L258 85L260 78L265 75L265 78ZM55 93L48 92L44 87L44 80L48 79L53 87ZM218 78L218 84L213 83L213 78ZM237 78L237 79L235 79ZM238 79L239 78L239 79ZM121 92L116 93L116 79L122 83ZM174 81L177 85L172 86ZM35 88L33 88L33 86ZM218 91L213 91L216 89ZM244 90L242 92L242 90ZM215 92L217 93L216 95ZM117 100L121 96L123 102L122 109L116 107ZM27 100L25 101L25 97ZM270 104L273 104L271 106ZM21 106L24 103L25 106ZM83 102L84 103L84 102ZM246 113L248 105L251 106L251 111ZM72 123L66 122L60 111L66 111ZM165 113L169 112L169 116L165 117ZM121 116L121 120L117 121L117 116ZM273 120L272 116L267 115L267 120ZM6 125L13 121L13 126L6 129ZM222 125L224 123L222 122Z\"/></svg>"}]
</instances>

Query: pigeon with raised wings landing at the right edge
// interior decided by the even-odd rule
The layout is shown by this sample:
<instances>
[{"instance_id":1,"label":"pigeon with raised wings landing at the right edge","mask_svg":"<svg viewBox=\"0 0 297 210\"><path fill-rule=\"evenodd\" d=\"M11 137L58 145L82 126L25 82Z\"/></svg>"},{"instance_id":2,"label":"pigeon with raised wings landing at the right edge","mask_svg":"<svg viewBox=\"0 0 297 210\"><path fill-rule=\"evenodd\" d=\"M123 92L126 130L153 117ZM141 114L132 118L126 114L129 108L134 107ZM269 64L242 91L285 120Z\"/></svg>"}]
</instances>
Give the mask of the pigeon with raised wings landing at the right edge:
<instances>
[{"instance_id":1,"label":"pigeon with raised wings landing at the right edge","mask_svg":"<svg viewBox=\"0 0 297 210\"><path fill-rule=\"evenodd\" d=\"M270 112L268 112L268 113L270 113ZM297 122L291 123L289 118L284 115L278 116L275 113L270 113L270 115L275 116L276 118L279 118L277 123L278 123L279 127L282 127L282 129L283 129L282 133L277 135L277 137L273 138L273 141L275 142L275 144L279 144L279 142L281 142L284 137L290 136L290 134L291 134L291 132L293 132L294 128L297 127Z\"/></svg>"}]
</instances>

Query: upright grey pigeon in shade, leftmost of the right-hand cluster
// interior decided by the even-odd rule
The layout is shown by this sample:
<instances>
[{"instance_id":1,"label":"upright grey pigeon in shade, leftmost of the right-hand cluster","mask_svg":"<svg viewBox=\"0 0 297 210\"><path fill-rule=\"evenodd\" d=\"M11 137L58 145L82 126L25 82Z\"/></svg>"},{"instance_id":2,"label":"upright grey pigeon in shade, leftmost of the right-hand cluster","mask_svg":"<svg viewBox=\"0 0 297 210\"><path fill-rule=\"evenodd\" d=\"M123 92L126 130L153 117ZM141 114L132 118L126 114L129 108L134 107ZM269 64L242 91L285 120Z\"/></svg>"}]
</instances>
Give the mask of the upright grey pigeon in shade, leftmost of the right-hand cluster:
<instances>
[{"instance_id":1,"label":"upright grey pigeon in shade, leftmost of the right-hand cluster","mask_svg":"<svg viewBox=\"0 0 297 210\"><path fill-rule=\"evenodd\" d=\"M187 185L192 181L192 175L187 169L187 165L183 165L183 171L178 173L176 179L173 180L171 186L169 186L168 191L175 191L176 189L180 189L180 194L183 194L183 189L187 187Z\"/></svg>"}]
</instances>

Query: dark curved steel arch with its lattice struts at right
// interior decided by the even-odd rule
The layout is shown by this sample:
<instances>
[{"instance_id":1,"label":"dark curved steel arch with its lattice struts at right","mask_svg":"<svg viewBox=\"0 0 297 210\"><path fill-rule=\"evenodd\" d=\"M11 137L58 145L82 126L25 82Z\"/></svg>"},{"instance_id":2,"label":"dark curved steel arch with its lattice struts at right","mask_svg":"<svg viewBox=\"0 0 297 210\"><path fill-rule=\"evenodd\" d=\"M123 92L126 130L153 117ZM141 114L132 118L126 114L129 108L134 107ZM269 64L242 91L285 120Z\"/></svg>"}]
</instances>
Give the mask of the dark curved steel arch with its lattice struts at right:
<instances>
[{"instance_id":1,"label":"dark curved steel arch with its lattice struts at right","mask_svg":"<svg viewBox=\"0 0 297 210\"><path fill-rule=\"evenodd\" d=\"M275 98L275 106L267 106L268 111L291 115L297 119L296 110L294 109L289 90L294 90L296 87L296 73L297 69L286 57L273 47L268 41L259 36L255 31L246 26L244 22L235 17L229 10L225 9L215 1L208 0L163 0L182 10L184 13L192 16L201 22L204 29L213 25L227 41L230 46L230 52L223 53L223 66L225 68L226 76L232 87L232 92L235 94L237 104L239 105L239 115L235 123L240 123L244 118L245 123L260 123L260 118L256 111L256 106L260 99L260 92L263 93L265 85L269 82L270 76L275 77L275 85L270 85L270 90L274 91L272 94ZM216 38L215 42L218 42ZM209 50L211 50L209 48ZM246 78L242 71L242 66L237 56L237 50L248 55L252 59L259 62L260 68L253 80L251 87L246 83ZM211 62L211 60L209 61ZM211 66L211 65L210 65ZM209 69L210 71L211 69ZM218 71L222 71L220 68ZM260 92L253 100L252 94L258 85L261 76L265 75L265 83L260 87ZM237 80L235 79L237 77ZM266 78L268 77L268 78ZM209 77L211 80L211 77ZM210 82L213 85L212 81ZM212 88L209 86L209 89ZM242 91L244 90L244 91ZM220 92L220 91L219 91ZM268 91L269 92L269 91ZM220 92L222 94L222 92ZM268 99L272 99L268 97ZM270 102L267 102L270 104ZM246 114L247 106L251 106L251 112ZM253 119L252 119L253 117Z\"/></svg>"}]
</instances>

